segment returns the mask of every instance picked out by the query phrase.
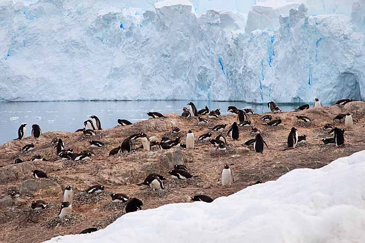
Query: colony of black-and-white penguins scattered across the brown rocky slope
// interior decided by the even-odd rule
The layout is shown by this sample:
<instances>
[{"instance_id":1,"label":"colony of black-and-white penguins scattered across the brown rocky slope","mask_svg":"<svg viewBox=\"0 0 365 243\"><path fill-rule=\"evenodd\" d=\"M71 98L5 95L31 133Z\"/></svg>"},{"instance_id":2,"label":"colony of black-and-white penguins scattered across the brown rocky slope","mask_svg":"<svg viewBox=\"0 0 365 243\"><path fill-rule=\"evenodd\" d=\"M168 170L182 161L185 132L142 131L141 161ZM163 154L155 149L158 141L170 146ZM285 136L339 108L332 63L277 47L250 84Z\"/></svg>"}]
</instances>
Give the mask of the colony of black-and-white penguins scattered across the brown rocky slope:
<instances>
[{"instance_id":1,"label":"colony of black-and-white penguins scattered across the brown rocky slope","mask_svg":"<svg viewBox=\"0 0 365 243\"><path fill-rule=\"evenodd\" d=\"M351 100L341 100L338 102L337 105L344 105ZM130 154L130 153L137 153L137 149L133 149L133 143L136 141L140 141L142 143L141 148L138 150L149 152L151 150L168 150L172 148L180 148L186 150L194 150L199 149L201 143L211 144L211 146L216 148L216 151L219 153L229 153L231 145L229 144L231 141L240 140L240 128L239 127L252 127L251 134L253 135L252 139L242 142L242 146L251 148L251 150L255 151L256 153L264 153L265 148L268 148L268 145L265 142L265 134L263 134L258 128L252 125L252 121L250 121L250 117L255 115L255 111L252 109L237 109L235 106L229 106L228 112L234 113L237 116L237 121L233 122L232 124L217 124L215 126L210 126L209 121L215 120L220 117L220 110L209 110L207 106L205 108L198 110L196 106L190 102L187 104L188 108L183 107L183 113L181 117L189 119L191 121L192 127L194 125L198 126L206 126L210 129L210 132L204 134L194 134L193 129L188 131L182 131L179 127L174 127L171 130L171 135L175 136L175 139L171 137L163 137L161 141L156 141L156 138L152 139L148 137L143 131L139 133L132 134L128 138L121 141L119 147L116 147L110 151L110 156L121 155L121 154ZM313 108L321 107L322 104L319 102L318 99L315 100ZM283 121L280 119L281 110L279 107L274 103L268 103L268 109L271 111L271 114L267 114L261 117L260 122L263 125L267 125L270 127L276 127L283 124ZM301 105L295 111L305 111L310 109L309 104ZM168 119L168 117L160 114L158 112L148 112L147 115L150 119ZM298 122L313 122L313 120L305 116L305 114L301 113L301 115L295 116ZM90 116L90 119L84 121L84 128L78 129L75 132L81 133L83 137L88 138L91 150L81 151L80 153L76 153L73 151L72 148L67 146L66 141L61 138L56 138L51 141L52 146L55 149L55 155L59 156L62 160L73 160L75 162L82 161L82 160L91 160L93 156L97 156L97 150L103 146L106 146L106 143L103 141L96 140L93 137L96 136L98 130L102 130L101 128L101 121L96 116ZM344 146L345 140L345 129L340 128L344 126L347 129L351 129L353 127L354 121L351 114L338 114L336 117L333 118L333 122L331 124L326 124L324 126L324 130L328 131L329 138L321 139L324 144L332 144L334 146ZM132 123L127 120L119 119L117 123L121 126L128 126ZM21 124L18 129L18 140L21 140L25 137L26 132L26 123ZM180 137L181 134L185 132L184 137ZM219 133L218 136L215 136L213 132ZM306 135L299 135L300 129L296 127L292 127L291 131L288 135L287 140L287 147L288 149L295 149L299 143L306 142L307 136ZM22 153L28 153L32 150L37 149L37 139L41 136L41 128L37 124L32 125L32 136L35 139L34 143L26 144L22 147ZM91 139L90 139L91 138ZM14 139L14 140L17 140ZM198 142L199 141L199 142ZM183 143L185 142L185 143ZM274 144L271 144L273 146ZM47 158L42 157L41 155L37 154L33 156L30 160L32 163L49 163ZM22 163L23 160L18 157L15 160L15 164ZM41 170L32 170L30 172L35 179L41 178L48 178L47 174ZM176 180L189 180L197 177L196 175L188 170L185 165L174 165L170 171L166 171L165 175L171 177L171 179ZM221 173L219 174L219 183L222 187L230 187L235 179L234 179L234 171L232 168L226 164L221 168ZM165 185L168 179L166 179L163 175L152 173L149 174L146 179L137 184L137 186L146 186L152 191L164 191ZM261 180L258 180L254 184L261 183ZM97 195L103 193L106 189L104 185L91 185L89 188L85 189L86 193ZM12 198L21 197L21 191L11 189L9 190L9 195ZM59 212L57 217L60 219L68 218L72 215L73 212L73 189L71 186L66 186L63 191L63 200L59 205ZM126 195L122 192L111 192L109 194L110 202L116 204L123 204L124 211L126 213L134 212L137 210L142 210L143 202L142 200L132 197L131 195ZM36 198L35 198L36 199ZM201 201L210 203L213 202L214 199L209 197L208 195L194 195L191 198L191 201ZM43 199L36 199L30 202L30 208L34 211L38 210L47 210L47 203ZM86 228L80 233L91 233L96 231L97 228Z\"/></svg>"}]
</instances>

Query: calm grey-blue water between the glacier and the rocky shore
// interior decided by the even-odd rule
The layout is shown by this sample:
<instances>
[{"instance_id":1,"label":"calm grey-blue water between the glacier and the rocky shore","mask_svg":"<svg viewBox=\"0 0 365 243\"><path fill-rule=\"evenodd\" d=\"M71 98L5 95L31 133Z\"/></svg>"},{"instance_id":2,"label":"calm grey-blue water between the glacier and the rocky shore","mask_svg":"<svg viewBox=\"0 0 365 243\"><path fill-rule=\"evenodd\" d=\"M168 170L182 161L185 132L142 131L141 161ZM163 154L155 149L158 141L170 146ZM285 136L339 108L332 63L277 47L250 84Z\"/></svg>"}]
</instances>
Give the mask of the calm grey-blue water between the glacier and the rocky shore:
<instances>
[{"instance_id":1,"label":"calm grey-blue water between the glacier and the rocky shore","mask_svg":"<svg viewBox=\"0 0 365 243\"><path fill-rule=\"evenodd\" d=\"M102 128L116 126L118 119L132 123L148 119L147 112L182 113L187 101L77 101L77 102L10 102L0 103L0 144L18 138L18 127L26 122L26 137L31 135L32 124L38 124L42 132L74 132L82 128L89 116L96 115ZM268 112L265 104L243 102L195 101L198 110L208 105L209 109L220 108L227 115L227 107L252 108L256 113ZM298 104L280 104L283 111L293 110Z\"/></svg>"}]
</instances>

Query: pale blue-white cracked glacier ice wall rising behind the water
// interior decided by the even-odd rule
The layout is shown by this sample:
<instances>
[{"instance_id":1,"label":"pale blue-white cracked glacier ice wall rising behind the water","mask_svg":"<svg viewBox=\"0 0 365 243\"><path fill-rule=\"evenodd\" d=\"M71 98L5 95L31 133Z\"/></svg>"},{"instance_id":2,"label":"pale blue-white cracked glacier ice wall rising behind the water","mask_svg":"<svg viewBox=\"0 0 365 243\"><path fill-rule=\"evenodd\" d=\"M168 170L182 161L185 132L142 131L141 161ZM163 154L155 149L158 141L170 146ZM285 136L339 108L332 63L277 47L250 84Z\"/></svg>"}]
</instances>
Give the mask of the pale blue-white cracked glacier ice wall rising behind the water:
<instances>
[{"instance_id":1,"label":"pale blue-white cracked glacier ice wall rising behind the water","mask_svg":"<svg viewBox=\"0 0 365 243\"><path fill-rule=\"evenodd\" d=\"M250 33L250 14L124 2L0 1L0 100L365 99L364 0L349 16L286 1Z\"/></svg>"}]
</instances>

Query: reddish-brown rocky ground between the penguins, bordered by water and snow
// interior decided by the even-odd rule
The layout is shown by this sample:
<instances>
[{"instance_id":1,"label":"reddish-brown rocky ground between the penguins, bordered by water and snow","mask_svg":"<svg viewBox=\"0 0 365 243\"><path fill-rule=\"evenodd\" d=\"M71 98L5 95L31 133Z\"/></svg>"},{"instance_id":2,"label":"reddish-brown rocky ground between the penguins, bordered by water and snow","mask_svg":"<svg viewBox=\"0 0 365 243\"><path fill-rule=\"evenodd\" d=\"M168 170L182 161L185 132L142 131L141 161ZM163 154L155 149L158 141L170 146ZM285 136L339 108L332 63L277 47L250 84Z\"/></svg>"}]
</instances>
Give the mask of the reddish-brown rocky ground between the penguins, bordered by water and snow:
<instances>
[{"instance_id":1,"label":"reddish-brown rocky ground between the penguins, bordered by water and snow","mask_svg":"<svg viewBox=\"0 0 365 243\"><path fill-rule=\"evenodd\" d=\"M344 128L343 122L335 123L333 118L340 113L350 112L357 121L352 129L345 132L345 146L335 147L324 145L320 139L330 135L323 129L326 123L332 123ZM295 115L305 115L313 119L309 123L297 121ZM66 148L74 152L90 149L88 141L82 133L48 132L37 141L27 137L20 141L8 142L0 146L0 242L38 243L54 236L76 234L88 227L99 229L108 226L123 215L123 205L110 202L109 192L125 193L129 197L137 197L143 201L143 209L156 208L164 204L188 202L189 196L206 194L212 198L228 196L240 191L257 180L263 182L275 180L279 176L297 168L320 168L332 160L349 156L365 149L365 102L352 102L344 107L329 106L312 108L300 112L283 112L273 114L280 118L283 124L278 127L264 125L261 115L251 115L253 125L262 131L268 148L263 154L257 154L242 144L255 134L251 127L240 128L240 139L232 141L227 138L228 152L218 152L208 142L197 141L206 132L213 132L216 124L233 123L236 115L219 119L208 119L209 124L200 125L196 118L182 118L177 114L165 114L168 118L149 119L130 126L116 127L96 131L93 140L105 142L102 148L92 149L95 153L90 161L62 161L56 156L51 145L52 139L62 138ZM173 127L181 129L179 134L171 134ZM299 135L306 134L307 142L295 149L285 149L290 129L295 126ZM180 136L183 142L187 131L191 129L196 138L196 148L185 150L175 148L166 151L153 149L150 152L139 149L140 143L134 142L135 151L131 154L109 156L112 148L120 145L129 135L144 132L148 137L157 139L167 136L174 139ZM229 126L222 134L226 135ZM31 152L21 152L28 143L35 142L36 149ZM30 162L30 158L40 154L48 161ZM16 158L24 163L13 164ZM180 181L171 179L167 171L175 164L185 164L191 174L199 175L193 179ZM229 164L235 176L235 182L230 188L222 188L219 184L219 174L225 164ZM38 169L48 174L47 179L33 179L32 170ZM168 178L164 191L152 191L145 186L137 186L146 175L159 173ZM84 192L96 184L106 186L99 195ZM70 185L75 191L73 215L60 220L56 216L61 203L63 189ZM10 188L17 188L22 195L15 201L7 196ZM33 212L30 203L43 199L48 203L45 210Z\"/></svg>"}]
</instances>

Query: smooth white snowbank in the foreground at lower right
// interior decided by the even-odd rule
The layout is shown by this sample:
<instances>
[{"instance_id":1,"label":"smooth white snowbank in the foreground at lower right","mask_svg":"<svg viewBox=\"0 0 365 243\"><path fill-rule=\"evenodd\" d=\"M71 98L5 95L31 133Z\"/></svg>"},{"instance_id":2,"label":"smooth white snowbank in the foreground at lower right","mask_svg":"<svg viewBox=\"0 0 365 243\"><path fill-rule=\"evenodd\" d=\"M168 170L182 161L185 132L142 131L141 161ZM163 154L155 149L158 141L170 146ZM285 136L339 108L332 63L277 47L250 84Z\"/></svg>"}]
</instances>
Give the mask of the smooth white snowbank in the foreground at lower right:
<instances>
[{"instance_id":1,"label":"smooth white snowbank in the foreground at lower right","mask_svg":"<svg viewBox=\"0 0 365 243\"><path fill-rule=\"evenodd\" d=\"M365 242L365 151L296 169L228 197L128 213L88 235L46 243ZM173 240L172 240L173 239Z\"/></svg>"}]
</instances>

